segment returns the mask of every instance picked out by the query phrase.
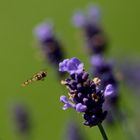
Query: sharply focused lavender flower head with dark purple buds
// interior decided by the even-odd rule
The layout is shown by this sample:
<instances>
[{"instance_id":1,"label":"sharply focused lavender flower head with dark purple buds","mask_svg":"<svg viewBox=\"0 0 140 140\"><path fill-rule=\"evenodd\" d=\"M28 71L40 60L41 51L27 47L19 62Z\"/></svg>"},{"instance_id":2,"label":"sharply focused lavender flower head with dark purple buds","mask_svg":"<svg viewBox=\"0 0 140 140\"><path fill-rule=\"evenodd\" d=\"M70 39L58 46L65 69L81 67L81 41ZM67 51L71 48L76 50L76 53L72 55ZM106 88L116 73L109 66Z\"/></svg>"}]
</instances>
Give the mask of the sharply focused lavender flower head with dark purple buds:
<instances>
[{"instance_id":1,"label":"sharply focused lavender flower head with dark purple buds","mask_svg":"<svg viewBox=\"0 0 140 140\"><path fill-rule=\"evenodd\" d=\"M100 89L100 80L89 79L89 74L84 71L84 65L77 58L66 59L59 64L60 71L66 71L70 77L61 83L69 90L69 100L65 96L60 97L64 103L63 109L72 107L77 112L84 113L84 125L95 126L101 123L107 114L103 111L104 90ZM108 89L105 90L106 94ZM111 89L109 90L111 92Z\"/></svg>"}]
</instances>

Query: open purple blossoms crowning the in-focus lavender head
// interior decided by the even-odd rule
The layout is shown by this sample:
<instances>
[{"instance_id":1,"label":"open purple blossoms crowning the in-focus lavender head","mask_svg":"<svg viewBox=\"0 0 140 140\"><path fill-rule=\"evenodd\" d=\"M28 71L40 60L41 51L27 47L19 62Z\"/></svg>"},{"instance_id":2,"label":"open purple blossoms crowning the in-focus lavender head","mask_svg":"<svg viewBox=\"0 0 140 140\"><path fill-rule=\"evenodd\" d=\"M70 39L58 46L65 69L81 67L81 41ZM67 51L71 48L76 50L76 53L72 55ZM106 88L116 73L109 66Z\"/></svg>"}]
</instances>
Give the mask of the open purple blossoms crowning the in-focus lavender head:
<instances>
[{"instance_id":1,"label":"open purple blossoms crowning the in-focus lavender head","mask_svg":"<svg viewBox=\"0 0 140 140\"><path fill-rule=\"evenodd\" d=\"M69 74L81 73L84 70L84 64L77 58L65 59L59 63L59 71L68 72Z\"/></svg>"}]
</instances>

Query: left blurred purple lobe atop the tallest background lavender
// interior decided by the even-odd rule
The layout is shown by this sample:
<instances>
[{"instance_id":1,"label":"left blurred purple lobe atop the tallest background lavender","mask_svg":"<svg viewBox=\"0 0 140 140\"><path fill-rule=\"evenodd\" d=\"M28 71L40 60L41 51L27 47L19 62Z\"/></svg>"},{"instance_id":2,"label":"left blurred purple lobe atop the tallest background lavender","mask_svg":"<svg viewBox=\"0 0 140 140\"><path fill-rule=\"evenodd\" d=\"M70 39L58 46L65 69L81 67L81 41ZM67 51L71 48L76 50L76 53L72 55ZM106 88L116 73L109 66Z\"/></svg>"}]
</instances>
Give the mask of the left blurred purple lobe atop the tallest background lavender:
<instances>
[{"instance_id":1,"label":"left blurred purple lobe atop the tallest background lavender","mask_svg":"<svg viewBox=\"0 0 140 140\"><path fill-rule=\"evenodd\" d=\"M81 11L76 12L72 18L72 22L76 27L84 26L86 23L85 15Z\"/></svg>"}]
</instances>

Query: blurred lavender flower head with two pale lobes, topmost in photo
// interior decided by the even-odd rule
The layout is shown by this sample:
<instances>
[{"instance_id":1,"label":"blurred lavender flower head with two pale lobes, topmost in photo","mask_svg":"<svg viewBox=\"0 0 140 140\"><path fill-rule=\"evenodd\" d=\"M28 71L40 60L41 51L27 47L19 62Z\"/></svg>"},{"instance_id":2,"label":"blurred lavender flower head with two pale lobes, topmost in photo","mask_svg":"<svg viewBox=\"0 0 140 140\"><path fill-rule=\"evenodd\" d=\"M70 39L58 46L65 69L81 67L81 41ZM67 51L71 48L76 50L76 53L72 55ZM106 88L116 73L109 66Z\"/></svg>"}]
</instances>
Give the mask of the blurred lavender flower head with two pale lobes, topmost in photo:
<instances>
[{"instance_id":1,"label":"blurred lavender flower head with two pale lobes, topmost in photo","mask_svg":"<svg viewBox=\"0 0 140 140\"><path fill-rule=\"evenodd\" d=\"M102 54L107 47L107 38L99 25L100 10L96 5L88 7L88 14L77 12L73 16L73 24L80 27L90 54Z\"/></svg>"}]
</instances>

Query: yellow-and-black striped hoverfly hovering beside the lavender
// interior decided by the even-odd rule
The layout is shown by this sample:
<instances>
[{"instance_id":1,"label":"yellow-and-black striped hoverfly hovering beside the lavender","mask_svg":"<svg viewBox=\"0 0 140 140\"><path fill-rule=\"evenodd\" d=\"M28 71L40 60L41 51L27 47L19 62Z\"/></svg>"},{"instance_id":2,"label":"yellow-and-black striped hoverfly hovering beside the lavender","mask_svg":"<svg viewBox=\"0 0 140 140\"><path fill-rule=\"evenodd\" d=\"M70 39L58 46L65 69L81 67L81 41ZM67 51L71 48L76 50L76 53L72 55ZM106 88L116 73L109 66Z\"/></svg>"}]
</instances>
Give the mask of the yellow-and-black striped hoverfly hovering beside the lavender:
<instances>
[{"instance_id":1,"label":"yellow-and-black striped hoverfly hovering beside the lavender","mask_svg":"<svg viewBox=\"0 0 140 140\"><path fill-rule=\"evenodd\" d=\"M47 72L45 71L39 71L38 73L34 74L32 76L32 78L30 78L29 80L26 80L24 83L22 83L21 85L23 87L29 85L30 83L32 82L35 82L35 81L40 81L40 80L44 80L44 78L47 76Z\"/></svg>"}]
</instances>

